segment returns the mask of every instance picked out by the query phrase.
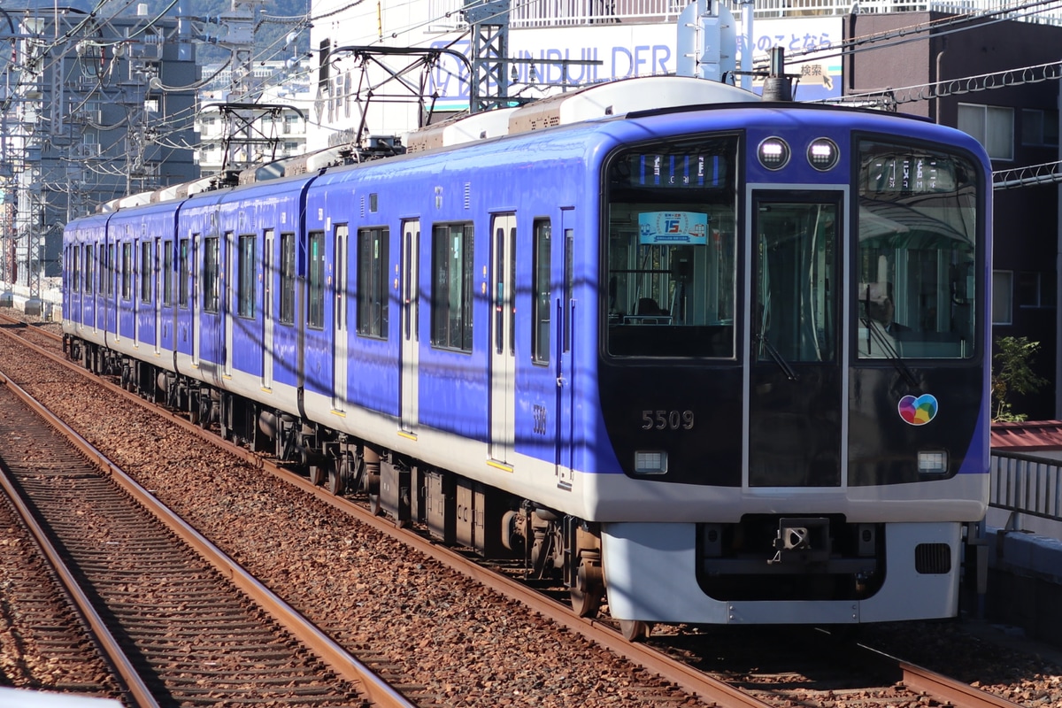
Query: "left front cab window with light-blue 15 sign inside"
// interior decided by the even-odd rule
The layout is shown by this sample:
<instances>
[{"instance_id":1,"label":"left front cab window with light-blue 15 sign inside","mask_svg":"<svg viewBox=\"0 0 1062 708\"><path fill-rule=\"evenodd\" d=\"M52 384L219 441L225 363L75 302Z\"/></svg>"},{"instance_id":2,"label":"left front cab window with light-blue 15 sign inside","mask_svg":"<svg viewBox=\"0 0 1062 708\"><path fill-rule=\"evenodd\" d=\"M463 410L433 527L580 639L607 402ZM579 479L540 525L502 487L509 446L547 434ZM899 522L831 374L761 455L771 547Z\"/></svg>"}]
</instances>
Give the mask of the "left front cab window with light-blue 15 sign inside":
<instances>
[{"instance_id":1,"label":"left front cab window with light-blue 15 sign inside","mask_svg":"<svg viewBox=\"0 0 1062 708\"><path fill-rule=\"evenodd\" d=\"M612 157L609 355L734 357L737 145L737 136L708 136Z\"/></svg>"}]
</instances>

